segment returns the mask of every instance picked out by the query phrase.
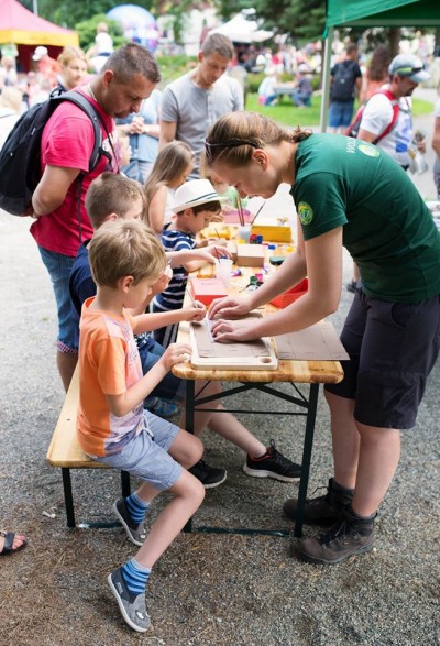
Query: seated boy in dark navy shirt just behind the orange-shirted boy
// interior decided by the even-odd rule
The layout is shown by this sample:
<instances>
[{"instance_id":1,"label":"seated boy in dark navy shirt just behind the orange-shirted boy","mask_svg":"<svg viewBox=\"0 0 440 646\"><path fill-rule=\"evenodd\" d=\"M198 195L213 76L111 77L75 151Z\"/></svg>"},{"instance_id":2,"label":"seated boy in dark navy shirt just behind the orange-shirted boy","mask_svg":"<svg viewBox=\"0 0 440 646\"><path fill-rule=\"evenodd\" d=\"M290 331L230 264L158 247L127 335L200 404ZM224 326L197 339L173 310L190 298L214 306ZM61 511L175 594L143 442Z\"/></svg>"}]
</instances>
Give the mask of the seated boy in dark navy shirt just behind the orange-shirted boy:
<instances>
[{"instance_id":1,"label":"seated boy in dark navy shirt just behind the orange-shirted boy","mask_svg":"<svg viewBox=\"0 0 440 646\"><path fill-rule=\"evenodd\" d=\"M90 221L92 222L94 228L98 230L100 230L102 223L106 223L109 219L119 220L139 218L142 212L142 189L140 185L128 177L122 177L121 175L114 175L112 173L105 173L95 179L86 196L86 207ZM70 295L73 296L73 299L75 294L78 296L76 306L78 307L79 305L79 308L88 297L95 296L96 294L96 285L90 272L87 249L87 247L84 248L85 256L82 259L82 265L79 263L81 250L78 253L78 266L76 267L76 264L74 265L70 276ZM220 247L218 248L219 253L221 253L221 249L222 248ZM172 261L172 267L174 265L175 267L179 267L180 263L187 267L188 265L191 266L191 263L202 264L207 259L211 259L211 262L215 262L211 254L212 250L199 250L184 245L178 250L167 250L165 255ZM173 271L179 270L175 269ZM167 285L168 277L161 278L157 284L154 285L152 294L163 292L167 288ZM91 292L87 294L86 287L91 289ZM142 304L140 309L132 311L132 314L142 314L145 310L145 306L146 303ZM200 317L204 318L205 313L205 308L186 307L183 309L180 304L178 309L145 315L148 317L146 319L148 320L148 326L145 329L155 330L164 325L174 325L182 320L196 320ZM148 350L148 348L142 342L142 335L138 335L136 339L141 355L142 370L146 374L150 370L154 369L165 350L160 343L155 343L153 349ZM198 380L196 382L196 391L202 391L208 397L218 394L221 391L221 386L215 381L206 382ZM185 384L182 380L169 372L163 376L158 386L152 392L161 396L166 395L173 402L180 402L184 399ZM207 408L207 410L204 410L204 408ZM213 408L215 410L212 410ZM155 413L155 410L153 410L153 413ZM185 425L184 415L185 412L180 419L182 426ZM293 482L294 480L299 479L300 467L290 462L290 460L287 460L275 449L275 447L271 446L266 449L263 442L256 439L256 437L240 424L233 415L224 410L219 401L198 406L194 420L195 435L200 437L206 427L224 439L232 441L235 446L240 447L248 453L244 471L249 475L254 475L256 478L271 477L284 482ZM219 486L227 479L226 469L211 467L202 459L190 468L190 472L200 480L205 489Z\"/></svg>"}]
</instances>

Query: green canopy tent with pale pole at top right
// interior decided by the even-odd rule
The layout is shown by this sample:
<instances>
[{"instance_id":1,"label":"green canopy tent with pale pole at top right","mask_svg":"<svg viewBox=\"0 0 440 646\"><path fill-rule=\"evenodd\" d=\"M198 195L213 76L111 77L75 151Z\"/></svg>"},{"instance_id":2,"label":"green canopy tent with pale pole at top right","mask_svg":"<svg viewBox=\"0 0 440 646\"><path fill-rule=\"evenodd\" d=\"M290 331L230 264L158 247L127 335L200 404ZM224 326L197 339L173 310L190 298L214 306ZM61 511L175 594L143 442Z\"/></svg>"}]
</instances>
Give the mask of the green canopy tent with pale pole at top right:
<instances>
[{"instance_id":1,"label":"green canopy tent with pale pole at top right","mask_svg":"<svg viewBox=\"0 0 440 646\"><path fill-rule=\"evenodd\" d=\"M327 129L334 28L440 26L439 0L327 0L322 65L321 131Z\"/></svg>"}]
</instances>

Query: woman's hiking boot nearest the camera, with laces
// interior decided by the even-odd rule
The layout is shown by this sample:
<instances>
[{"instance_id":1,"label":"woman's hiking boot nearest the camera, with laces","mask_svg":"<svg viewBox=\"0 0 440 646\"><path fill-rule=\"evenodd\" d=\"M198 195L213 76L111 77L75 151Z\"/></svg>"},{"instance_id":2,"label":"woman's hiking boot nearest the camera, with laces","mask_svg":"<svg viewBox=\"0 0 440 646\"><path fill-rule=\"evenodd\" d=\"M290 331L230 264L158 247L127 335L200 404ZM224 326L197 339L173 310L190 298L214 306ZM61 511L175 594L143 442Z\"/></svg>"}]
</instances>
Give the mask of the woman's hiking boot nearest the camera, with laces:
<instances>
[{"instance_id":1,"label":"woman's hiking boot nearest the camera, with laces","mask_svg":"<svg viewBox=\"0 0 440 646\"><path fill-rule=\"evenodd\" d=\"M332 566L349 556L366 554L374 547L374 517L361 518L351 507L343 511L344 519L318 538L306 538L299 547L302 560Z\"/></svg>"}]
</instances>

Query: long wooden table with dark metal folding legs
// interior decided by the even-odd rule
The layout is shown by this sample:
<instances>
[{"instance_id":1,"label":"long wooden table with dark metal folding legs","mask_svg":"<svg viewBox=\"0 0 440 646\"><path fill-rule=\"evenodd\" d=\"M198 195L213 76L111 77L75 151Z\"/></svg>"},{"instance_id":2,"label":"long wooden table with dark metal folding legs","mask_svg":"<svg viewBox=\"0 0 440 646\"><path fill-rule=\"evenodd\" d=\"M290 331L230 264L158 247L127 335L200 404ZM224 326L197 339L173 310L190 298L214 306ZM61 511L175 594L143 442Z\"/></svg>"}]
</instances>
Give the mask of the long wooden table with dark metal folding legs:
<instances>
[{"instance_id":1,"label":"long wooden table with dark metal folding legs","mask_svg":"<svg viewBox=\"0 0 440 646\"><path fill-rule=\"evenodd\" d=\"M211 266L199 270L200 273L212 272ZM261 272L261 269L242 267L243 275L233 278L231 293L237 293L240 288L249 283L249 275ZM189 304L189 303L188 303ZM266 306L266 313L275 311L272 305ZM188 342L188 331L180 329L178 342ZM286 361L280 360L278 368L271 371L262 370L200 370L194 369L189 362L176 364L173 368L176 376L186 380L186 429L194 431L194 414L197 406L226 398L238 393L244 393L250 390L267 393L275 397L274 409L272 410L237 410L229 409L229 413L252 413L262 415L296 415L306 417L306 431L302 448L301 477L298 492L298 511L295 521L294 534L300 537L302 534L304 508L307 496L307 486L310 471L311 449L314 444L315 420L318 404L319 384L339 383L343 379L342 366L339 361ZM204 397L196 396L195 380L238 382L238 385L231 387L220 395ZM277 390L277 383L290 383L294 393L286 394ZM298 384L308 384L308 396L298 387ZM293 410L286 413L276 409L276 398L284 399L293 404ZM205 408L205 410L207 410ZM215 409L211 409L215 410ZM228 534L268 534L276 536L286 536L285 529L248 529L248 528L226 528L226 527L197 527L193 528L191 521L185 527L186 532L212 532Z\"/></svg>"}]
</instances>

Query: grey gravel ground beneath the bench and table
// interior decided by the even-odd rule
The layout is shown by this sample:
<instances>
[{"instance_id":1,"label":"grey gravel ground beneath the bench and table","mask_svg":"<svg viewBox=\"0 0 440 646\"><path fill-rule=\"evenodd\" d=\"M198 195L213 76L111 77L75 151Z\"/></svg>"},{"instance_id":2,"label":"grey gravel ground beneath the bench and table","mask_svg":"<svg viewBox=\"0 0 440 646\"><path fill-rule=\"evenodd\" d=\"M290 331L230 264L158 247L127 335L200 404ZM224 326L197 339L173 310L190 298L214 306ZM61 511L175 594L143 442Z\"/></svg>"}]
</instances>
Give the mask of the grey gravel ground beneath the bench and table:
<instances>
[{"instance_id":1,"label":"grey gravel ground beneath the bench and table","mask_svg":"<svg viewBox=\"0 0 440 646\"><path fill-rule=\"evenodd\" d=\"M0 527L20 529L30 539L25 550L1 561L0 644L440 644L440 364L416 428L403 437L402 463L381 508L373 552L326 568L300 562L293 537L182 534L154 568L147 594L152 629L139 635L128 628L106 577L135 554L134 546L119 528L67 529L61 472L45 461L63 391L54 360L54 299L28 228L26 220L0 213ZM348 282L348 258L344 264ZM333 318L338 328L350 302L343 291ZM245 421L263 441L274 438L299 461L300 420L280 416L274 425L266 416L249 415ZM309 492L331 475L328 426L320 395ZM207 493L197 525L292 529L280 508L297 485L250 479L238 449L209 436L206 447L207 460L227 467L229 477ZM76 471L73 481L78 519L111 519L119 477ZM312 530L306 527L305 534Z\"/></svg>"}]
</instances>

